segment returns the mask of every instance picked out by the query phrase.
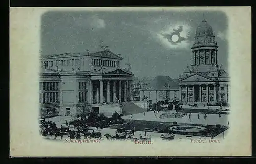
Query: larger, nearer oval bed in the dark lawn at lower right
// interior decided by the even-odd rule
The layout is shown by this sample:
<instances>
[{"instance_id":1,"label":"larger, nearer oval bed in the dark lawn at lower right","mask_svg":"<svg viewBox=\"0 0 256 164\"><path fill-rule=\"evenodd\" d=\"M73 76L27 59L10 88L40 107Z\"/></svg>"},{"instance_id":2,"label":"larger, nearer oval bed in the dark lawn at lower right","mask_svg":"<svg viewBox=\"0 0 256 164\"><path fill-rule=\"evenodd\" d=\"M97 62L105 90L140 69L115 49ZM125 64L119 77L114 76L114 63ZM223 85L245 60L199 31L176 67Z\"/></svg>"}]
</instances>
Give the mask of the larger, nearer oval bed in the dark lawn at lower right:
<instances>
[{"instance_id":1,"label":"larger, nearer oval bed in the dark lawn at lower right","mask_svg":"<svg viewBox=\"0 0 256 164\"><path fill-rule=\"evenodd\" d=\"M202 126L196 126L196 125L177 125L177 126L169 127L168 129L174 132L193 133L193 132L204 131L206 128Z\"/></svg>"}]
</instances>

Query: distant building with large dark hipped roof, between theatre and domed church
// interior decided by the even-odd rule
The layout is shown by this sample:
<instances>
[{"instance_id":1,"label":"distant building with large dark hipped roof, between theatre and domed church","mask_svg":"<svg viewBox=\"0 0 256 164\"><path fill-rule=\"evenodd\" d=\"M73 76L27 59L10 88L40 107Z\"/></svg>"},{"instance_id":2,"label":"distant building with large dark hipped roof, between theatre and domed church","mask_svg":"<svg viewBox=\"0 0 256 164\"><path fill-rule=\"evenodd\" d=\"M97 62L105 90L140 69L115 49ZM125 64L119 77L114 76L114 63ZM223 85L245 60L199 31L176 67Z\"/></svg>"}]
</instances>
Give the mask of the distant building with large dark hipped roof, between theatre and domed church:
<instances>
[{"instance_id":1,"label":"distant building with large dark hipped roof, between theatre and domed church","mask_svg":"<svg viewBox=\"0 0 256 164\"><path fill-rule=\"evenodd\" d=\"M157 76L140 91L140 101L147 97L149 103L179 98L179 84L169 76Z\"/></svg>"}]
</instances>

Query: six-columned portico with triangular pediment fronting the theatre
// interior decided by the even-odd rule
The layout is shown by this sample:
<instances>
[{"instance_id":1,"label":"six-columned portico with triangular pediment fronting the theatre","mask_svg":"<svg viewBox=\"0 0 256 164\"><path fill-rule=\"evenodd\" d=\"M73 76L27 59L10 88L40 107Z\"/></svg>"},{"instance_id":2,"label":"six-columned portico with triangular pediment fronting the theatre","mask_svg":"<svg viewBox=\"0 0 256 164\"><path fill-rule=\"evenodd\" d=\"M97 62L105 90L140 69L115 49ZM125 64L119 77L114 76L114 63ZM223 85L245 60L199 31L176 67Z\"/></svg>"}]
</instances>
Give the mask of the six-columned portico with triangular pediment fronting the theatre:
<instances>
[{"instance_id":1,"label":"six-columned portico with triangular pediment fronting the theatre","mask_svg":"<svg viewBox=\"0 0 256 164\"><path fill-rule=\"evenodd\" d=\"M103 69L91 74L91 104L131 101L133 74L124 69Z\"/></svg>"}]
</instances>

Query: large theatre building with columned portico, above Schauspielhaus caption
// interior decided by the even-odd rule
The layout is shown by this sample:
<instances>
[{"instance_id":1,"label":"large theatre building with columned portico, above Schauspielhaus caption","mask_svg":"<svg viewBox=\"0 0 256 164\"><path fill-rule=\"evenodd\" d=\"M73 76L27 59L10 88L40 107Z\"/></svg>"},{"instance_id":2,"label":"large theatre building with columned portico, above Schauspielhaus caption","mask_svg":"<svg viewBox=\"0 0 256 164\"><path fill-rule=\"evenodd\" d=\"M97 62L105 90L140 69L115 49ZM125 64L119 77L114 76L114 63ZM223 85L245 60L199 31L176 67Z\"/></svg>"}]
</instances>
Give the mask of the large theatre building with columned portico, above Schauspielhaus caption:
<instances>
[{"instance_id":1,"label":"large theatre building with columned portico, above Schauspielhaus caption","mask_svg":"<svg viewBox=\"0 0 256 164\"><path fill-rule=\"evenodd\" d=\"M106 115L115 111L122 114L120 103L131 100L133 74L120 68L121 61L120 55L109 50L42 55L40 65L50 73L40 73L40 80L52 82L58 77L56 105L61 116L76 116L92 110ZM41 105L40 111L48 103ZM47 116L50 115L42 112L41 117Z\"/></svg>"}]
</instances>

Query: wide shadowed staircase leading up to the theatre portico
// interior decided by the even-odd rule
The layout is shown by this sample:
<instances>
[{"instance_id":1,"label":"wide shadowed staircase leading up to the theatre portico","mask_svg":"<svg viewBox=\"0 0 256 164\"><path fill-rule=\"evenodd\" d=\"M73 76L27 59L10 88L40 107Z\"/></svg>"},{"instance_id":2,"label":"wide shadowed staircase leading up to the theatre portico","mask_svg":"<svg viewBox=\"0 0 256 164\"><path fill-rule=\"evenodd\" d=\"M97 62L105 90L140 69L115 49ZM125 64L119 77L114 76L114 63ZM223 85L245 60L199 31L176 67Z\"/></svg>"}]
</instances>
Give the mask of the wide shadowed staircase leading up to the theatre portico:
<instances>
[{"instance_id":1,"label":"wide shadowed staircase leading up to the theatre portico","mask_svg":"<svg viewBox=\"0 0 256 164\"><path fill-rule=\"evenodd\" d=\"M133 102L122 102L122 108L123 108L123 116L144 112L143 108L138 107Z\"/></svg>"}]
</instances>

